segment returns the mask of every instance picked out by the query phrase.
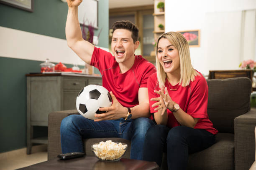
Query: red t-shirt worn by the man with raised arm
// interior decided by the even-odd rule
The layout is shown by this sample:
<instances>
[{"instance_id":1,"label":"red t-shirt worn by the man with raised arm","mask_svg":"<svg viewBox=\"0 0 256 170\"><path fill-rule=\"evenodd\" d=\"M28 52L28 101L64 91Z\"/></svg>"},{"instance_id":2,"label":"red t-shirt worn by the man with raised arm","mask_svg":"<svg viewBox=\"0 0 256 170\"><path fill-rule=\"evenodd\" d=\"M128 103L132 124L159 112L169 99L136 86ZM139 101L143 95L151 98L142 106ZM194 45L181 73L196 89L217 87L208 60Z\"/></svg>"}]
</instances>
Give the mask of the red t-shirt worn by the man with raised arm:
<instances>
[{"instance_id":1,"label":"red t-shirt worn by the man with raised arm","mask_svg":"<svg viewBox=\"0 0 256 170\"><path fill-rule=\"evenodd\" d=\"M120 67L115 57L110 52L97 47L94 48L91 65L100 70L103 87L112 91L124 107L134 107L139 104L139 88L147 87L148 77L156 72L152 63L141 55L135 55L135 61L130 70L120 74Z\"/></svg>"}]
</instances>

